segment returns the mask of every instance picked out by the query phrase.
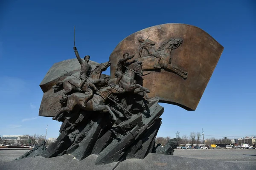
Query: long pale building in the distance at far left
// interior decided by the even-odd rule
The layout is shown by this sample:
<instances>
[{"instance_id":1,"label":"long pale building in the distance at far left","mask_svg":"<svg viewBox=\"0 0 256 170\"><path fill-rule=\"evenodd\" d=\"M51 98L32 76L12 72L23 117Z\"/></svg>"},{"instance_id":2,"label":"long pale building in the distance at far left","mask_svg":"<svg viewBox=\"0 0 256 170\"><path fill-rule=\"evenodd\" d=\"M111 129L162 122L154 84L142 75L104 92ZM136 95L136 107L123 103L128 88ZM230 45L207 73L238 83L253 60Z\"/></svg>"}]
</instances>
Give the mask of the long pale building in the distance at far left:
<instances>
[{"instance_id":1,"label":"long pale building in the distance at far left","mask_svg":"<svg viewBox=\"0 0 256 170\"><path fill-rule=\"evenodd\" d=\"M2 141L5 144L29 144L32 139L29 135L3 135Z\"/></svg>"}]
</instances>

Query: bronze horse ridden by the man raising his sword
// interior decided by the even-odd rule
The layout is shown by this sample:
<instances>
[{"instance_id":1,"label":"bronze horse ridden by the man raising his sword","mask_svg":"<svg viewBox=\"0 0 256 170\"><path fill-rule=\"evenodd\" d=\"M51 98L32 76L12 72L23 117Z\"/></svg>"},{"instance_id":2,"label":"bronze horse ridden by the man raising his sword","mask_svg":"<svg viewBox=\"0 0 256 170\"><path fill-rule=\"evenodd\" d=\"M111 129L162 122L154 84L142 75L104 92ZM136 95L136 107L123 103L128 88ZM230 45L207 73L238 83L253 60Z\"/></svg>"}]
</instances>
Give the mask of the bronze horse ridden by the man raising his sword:
<instances>
[{"instance_id":1,"label":"bronze horse ridden by the man raising his sword","mask_svg":"<svg viewBox=\"0 0 256 170\"><path fill-rule=\"evenodd\" d=\"M88 78L88 81L93 80L93 79L99 79L101 80L100 82L104 82L104 79L100 79L102 71L107 70L107 68L111 65L111 62L105 62L102 63L100 65L98 65L90 74L90 77ZM64 93L63 95L67 95L70 92L74 91L74 92L80 92L78 87L79 87L79 83L81 82L81 80L77 79L77 78L67 78L64 79L64 81L58 82L56 85L52 86L52 88L56 91L56 90L61 90L62 88L64 88ZM103 84L104 83L99 83L99 84ZM97 87L97 86L96 86ZM99 88L99 87L97 87ZM87 91L87 84L85 83L82 87L82 91L86 92Z\"/></svg>"}]
</instances>

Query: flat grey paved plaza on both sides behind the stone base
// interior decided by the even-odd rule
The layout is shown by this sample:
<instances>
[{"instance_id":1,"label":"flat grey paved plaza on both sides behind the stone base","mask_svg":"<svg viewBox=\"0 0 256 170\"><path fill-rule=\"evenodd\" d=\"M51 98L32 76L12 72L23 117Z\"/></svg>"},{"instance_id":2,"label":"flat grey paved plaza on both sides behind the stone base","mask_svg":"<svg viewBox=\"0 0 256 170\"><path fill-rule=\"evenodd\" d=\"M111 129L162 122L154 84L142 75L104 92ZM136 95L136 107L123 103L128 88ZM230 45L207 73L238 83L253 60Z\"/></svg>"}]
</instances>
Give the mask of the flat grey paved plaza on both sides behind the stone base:
<instances>
[{"instance_id":1,"label":"flat grey paved plaza on both sides behind the stone base","mask_svg":"<svg viewBox=\"0 0 256 170\"><path fill-rule=\"evenodd\" d=\"M12 161L29 150L0 150L0 162ZM256 165L256 149L224 149L224 150L175 150L175 156L208 159L215 161L229 161L236 163L250 163Z\"/></svg>"}]
</instances>

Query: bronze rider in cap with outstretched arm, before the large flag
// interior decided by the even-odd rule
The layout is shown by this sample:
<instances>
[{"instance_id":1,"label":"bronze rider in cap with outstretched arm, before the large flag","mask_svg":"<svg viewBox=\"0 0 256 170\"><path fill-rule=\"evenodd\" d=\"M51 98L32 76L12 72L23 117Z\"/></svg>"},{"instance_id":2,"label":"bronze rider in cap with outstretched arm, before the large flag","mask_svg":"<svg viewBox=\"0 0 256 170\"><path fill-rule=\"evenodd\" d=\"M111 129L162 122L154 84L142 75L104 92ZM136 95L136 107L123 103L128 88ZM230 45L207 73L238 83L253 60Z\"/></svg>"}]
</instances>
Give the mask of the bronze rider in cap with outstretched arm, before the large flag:
<instances>
[{"instance_id":1,"label":"bronze rider in cap with outstretched arm, before the large flag","mask_svg":"<svg viewBox=\"0 0 256 170\"><path fill-rule=\"evenodd\" d=\"M133 62L126 62L127 60L133 58L135 55L129 56L128 53L123 55L123 58L120 59L116 65L115 76L117 77L116 84L118 85L122 79L123 74L125 74L126 67Z\"/></svg>"}]
</instances>

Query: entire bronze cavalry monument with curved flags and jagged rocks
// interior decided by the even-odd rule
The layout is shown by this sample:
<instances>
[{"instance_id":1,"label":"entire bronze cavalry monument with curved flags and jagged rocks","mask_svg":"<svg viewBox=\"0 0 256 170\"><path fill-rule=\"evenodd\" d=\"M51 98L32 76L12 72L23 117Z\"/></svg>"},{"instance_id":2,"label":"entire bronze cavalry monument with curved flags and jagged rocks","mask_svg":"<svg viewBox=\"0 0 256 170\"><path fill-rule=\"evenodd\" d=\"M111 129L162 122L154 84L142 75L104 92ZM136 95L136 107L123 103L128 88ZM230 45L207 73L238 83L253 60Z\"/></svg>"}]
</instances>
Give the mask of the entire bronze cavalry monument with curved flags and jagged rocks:
<instances>
[{"instance_id":1,"label":"entire bronze cavalry monument with curved flags and jagged rocks","mask_svg":"<svg viewBox=\"0 0 256 170\"><path fill-rule=\"evenodd\" d=\"M81 58L75 43L73 50L76 59L55 63L40 84L39 115L62 122L60 136L20 159L96 154L99 165L173 155L176 139L155 143L164 110L158 102L195 110L223 47L195 26L163 24L126 37L101 64ZM109 66L111 77L102 74Z\"/></svg>"}]
</instances>

